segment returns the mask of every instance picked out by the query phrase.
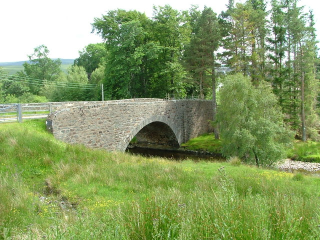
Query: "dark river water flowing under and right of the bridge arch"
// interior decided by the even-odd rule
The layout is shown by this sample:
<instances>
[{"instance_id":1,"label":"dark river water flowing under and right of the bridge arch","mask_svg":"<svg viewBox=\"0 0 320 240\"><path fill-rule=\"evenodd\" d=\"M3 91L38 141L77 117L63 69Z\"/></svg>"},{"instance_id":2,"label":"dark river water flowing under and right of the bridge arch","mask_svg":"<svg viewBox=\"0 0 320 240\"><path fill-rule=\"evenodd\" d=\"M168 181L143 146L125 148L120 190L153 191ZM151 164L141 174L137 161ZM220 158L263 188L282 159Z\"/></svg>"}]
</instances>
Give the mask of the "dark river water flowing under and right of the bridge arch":
<instances>
[{"instance_id":1,"label":"dark river water flowing under and right of the bridge arch","mask_svg":"<svg viewBox=\"0 0 320 240\"><path fill-rule=\"evenodd\" d=\"M128 147L126 152L132 154L139 154L143 156L159 156L168 159L175 160L208 160L208 161L224 161L225 159L219 154L201 152L201 151L186 151L186 150L169 150L169 149L155 149L155 148L144 148L144 147Z\"/></svg>"}]
</instances>

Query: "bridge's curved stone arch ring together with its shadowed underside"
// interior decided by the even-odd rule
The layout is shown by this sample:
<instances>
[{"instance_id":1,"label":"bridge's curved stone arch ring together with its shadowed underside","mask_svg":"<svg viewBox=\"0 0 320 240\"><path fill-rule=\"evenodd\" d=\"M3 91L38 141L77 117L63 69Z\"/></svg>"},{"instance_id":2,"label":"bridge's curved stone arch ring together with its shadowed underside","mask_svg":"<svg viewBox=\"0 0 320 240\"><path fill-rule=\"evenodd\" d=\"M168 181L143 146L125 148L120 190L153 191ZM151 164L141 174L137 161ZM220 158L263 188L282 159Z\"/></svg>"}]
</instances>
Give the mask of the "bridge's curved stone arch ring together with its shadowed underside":
<instances>
[{"instance_id":1,"label":"bridge's curved stone arch ring together with its shadowed underside","mask_svg":"<svg viewBox=\"0 0 320 240\"><path fill-rule=\"evenodd\" d=\"M149 148L178 148L182 142L181 131L167 117L152 116L143 119L138 126L130 132L125 146L129 145L135 136L139 147Z\"/></svg>"}]
</instances>

